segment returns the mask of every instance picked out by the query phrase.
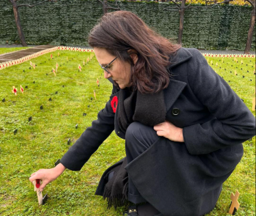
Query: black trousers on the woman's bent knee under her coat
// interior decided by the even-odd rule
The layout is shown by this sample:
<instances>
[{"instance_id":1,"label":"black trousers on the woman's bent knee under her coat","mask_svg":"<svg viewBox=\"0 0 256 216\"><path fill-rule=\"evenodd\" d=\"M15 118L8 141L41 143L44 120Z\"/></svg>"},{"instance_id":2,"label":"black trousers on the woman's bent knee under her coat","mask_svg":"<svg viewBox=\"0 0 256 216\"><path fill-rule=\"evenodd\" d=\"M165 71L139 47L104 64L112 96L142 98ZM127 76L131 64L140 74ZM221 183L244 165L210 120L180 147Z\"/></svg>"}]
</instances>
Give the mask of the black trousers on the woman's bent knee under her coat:
<instances>
[{"instance_id":1,"label":"black trousers on the woman's bent knee under her coat","mask_svg":"<svg viewBox=\"0 0 256 216\"><path fill-rule=\"evenodd\" d=\"M139 122L131 123L125 134L127 163L136 159L136 157L148 149L157 139L159 139L159 136L153 127L145 126ZM146 202L133 184L131 178L129 178L128 200L134 204Z\"/></svg>"}]
</instances>

